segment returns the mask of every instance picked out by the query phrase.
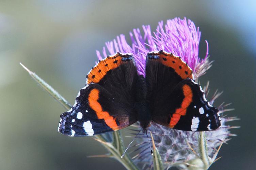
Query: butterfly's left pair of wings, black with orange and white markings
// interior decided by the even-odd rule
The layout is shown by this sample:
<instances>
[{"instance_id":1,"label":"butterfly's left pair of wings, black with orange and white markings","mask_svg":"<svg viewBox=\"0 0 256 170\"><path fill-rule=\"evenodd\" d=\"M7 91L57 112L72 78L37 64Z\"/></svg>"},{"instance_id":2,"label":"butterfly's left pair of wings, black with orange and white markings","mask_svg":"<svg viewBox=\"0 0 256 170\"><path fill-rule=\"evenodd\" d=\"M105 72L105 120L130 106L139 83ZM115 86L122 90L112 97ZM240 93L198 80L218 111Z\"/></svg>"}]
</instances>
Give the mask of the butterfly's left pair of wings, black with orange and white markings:
<instances>
[{"instance_id":1,"label":"butterfly's left pair of wings, black with orange and white markings","mask_svg":"<svg viewBox=\"0 0 256 170\"><path fill-rule=\"evenodd\" d=\"M61 115L58 131L68 136L92 136L116 131L137 121L134 111L138 79L133 57L117 53L92 68L74 106Z\"/></svg>"}]
</instances>

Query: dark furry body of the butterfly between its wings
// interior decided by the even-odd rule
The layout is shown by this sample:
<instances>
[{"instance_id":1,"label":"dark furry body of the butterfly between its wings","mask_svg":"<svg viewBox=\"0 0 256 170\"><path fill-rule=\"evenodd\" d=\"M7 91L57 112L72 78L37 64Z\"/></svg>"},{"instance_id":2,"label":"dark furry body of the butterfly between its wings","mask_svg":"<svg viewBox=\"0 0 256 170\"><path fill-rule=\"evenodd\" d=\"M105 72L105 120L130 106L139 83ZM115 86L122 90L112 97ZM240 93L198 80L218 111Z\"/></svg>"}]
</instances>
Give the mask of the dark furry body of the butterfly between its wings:
<instances>
[{"instance_id":1,"label":"dark furry body of the butterfly between its wings","mask_svg":"<svg viewBox=\"0 0 256 170\"><path fill-rule=\"evenodd\" d=\"M135 102L135 109L137 111L138 120L140 122L143 133L147 132L147 128L150 125L152 120L149 104L146 100L146 79L143 75L139 76L139 79L136 84L136 102Z\"/></svg>"}]
</instances>

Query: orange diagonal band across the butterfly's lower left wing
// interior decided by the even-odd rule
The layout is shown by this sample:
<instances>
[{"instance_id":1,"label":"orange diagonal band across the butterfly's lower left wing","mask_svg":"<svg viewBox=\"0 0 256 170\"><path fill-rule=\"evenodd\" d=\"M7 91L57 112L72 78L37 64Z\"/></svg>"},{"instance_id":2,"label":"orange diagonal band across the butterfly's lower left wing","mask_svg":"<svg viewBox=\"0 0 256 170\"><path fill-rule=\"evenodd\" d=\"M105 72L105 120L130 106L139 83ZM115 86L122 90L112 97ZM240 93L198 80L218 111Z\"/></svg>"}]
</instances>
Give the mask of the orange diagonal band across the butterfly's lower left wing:
<instances>
[{"instance_id":1,"label":"orange diagonal band across the butterfly's lower left wing","mask_svg":"<svg viewBox=\"0 0 256 170\"><path fill-rule=\"evenodd\" d=\"M98 102L99 90L92 89L89 94L89 105L96 112L98 119L104 119L106 124L113 130L118 130L118 125L116 124L115 118L110 116L108 112L102 111L102 107Z\"/></svg>"}]
</instances>

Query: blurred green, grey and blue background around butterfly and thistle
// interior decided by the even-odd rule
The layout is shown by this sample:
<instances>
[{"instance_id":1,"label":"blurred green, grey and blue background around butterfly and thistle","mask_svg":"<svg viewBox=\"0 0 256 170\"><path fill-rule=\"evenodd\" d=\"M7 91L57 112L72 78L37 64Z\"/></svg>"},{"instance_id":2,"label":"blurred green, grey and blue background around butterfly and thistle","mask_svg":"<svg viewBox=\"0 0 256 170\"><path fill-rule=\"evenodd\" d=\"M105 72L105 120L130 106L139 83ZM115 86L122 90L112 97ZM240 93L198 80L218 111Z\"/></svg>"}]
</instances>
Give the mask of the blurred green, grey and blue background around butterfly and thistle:
<instances>
[{"instance_id":1,"label":"blurred green, grey and blue background around butterfly and thistle","mask_svg":"<svg viewBox=\"0 0 256 170\"><path fill-rule=\"evenodd\" d=\"M199 55L209 43L213 67L202 76L216 101L232 102L228 116L241 126L210 169L256 168L256 69L254 0L214 1L0 1L0 169L123 169L91 137L58 133L65 109L19 65L36 72L71 104L95 65L96 50L119 34L158 21L187 17L202 32ZM126 130L122 130L126 132ZM126 138L126 143L130 141Z\"/></svg>"}]
</instances>

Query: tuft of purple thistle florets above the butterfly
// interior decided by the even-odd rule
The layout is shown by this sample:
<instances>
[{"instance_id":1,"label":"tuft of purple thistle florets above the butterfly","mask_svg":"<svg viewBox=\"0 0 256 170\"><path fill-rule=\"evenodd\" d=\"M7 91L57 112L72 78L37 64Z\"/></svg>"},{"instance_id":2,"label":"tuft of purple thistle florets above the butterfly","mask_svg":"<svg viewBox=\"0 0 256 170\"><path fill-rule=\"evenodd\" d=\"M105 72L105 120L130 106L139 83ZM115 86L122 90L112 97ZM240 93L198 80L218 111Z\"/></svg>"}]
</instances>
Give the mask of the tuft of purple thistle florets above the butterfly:
<instances>
[{"instance_id":1,"label":"tuft of purple thistle florets above the butterfly","mask_svg":"<svg viewBox=\"0 0 256 170\"><path fill-rule=\"evenodd\" d=\"M186 18L174 18L166 21L158 22L155 32L151 32L150 26L142 26L144 36L139 29L133 29L130 32L131 46L127 44L125 36L119 35L113 41L106 43L108 53L114 55L116 52L132 53L136 62L139 74L145 76L146 55L150 51L164 50L172 52L176 56L180 56L194 72L197 68L201 68L207 60L209 53L208 42L206 42L206 55L203 59L198 56L199 41L201 32L199 27L191 20ZM96 51L97 57L101 60L99 51ZM103 47L103 57L107 56L106 48ZM203 73L198 74L203 75Z\"/></svg>"}]
</instances>

